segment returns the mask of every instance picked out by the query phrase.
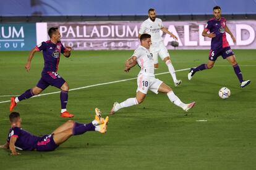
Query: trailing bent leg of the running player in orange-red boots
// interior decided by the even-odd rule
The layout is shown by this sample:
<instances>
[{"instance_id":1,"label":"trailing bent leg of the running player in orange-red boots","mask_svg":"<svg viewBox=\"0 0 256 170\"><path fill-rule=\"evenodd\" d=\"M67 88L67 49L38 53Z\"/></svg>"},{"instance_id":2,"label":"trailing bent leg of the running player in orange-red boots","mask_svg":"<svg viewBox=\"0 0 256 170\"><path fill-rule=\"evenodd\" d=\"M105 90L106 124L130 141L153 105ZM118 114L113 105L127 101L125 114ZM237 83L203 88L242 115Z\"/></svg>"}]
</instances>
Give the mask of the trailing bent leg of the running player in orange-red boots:
<instances>
[{"instance_id":1,"label":"trailing bent leg of the running player in orange-red boots","mask_svg":"<svg viewBox=\"0 0 256 170\"><path fill-rule=\"evenodd\" d=\"M10 105L10 112L14 109L14 107L17 105L18 102L29 99L33 95L38 95L43 91L43 89L40 89L39 87L33 87L33 89L28 89L25 91L22 95L19 97L11 97L11 105Z\"/></svg>"}]
</instances>

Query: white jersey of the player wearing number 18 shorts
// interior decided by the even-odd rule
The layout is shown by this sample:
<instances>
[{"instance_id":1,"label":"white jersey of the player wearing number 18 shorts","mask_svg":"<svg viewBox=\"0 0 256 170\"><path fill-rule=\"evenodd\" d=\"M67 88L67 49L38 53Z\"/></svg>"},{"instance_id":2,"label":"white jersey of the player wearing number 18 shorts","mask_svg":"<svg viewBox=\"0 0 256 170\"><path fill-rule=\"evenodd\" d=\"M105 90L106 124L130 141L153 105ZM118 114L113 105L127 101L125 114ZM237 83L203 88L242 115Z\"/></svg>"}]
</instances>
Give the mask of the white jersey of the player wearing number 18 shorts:
<instances>
[{"instance_id":1,"label":"white jersey of the player wearing number 18 shorts","mask_svg":"<svg viewBox=\"0 0 256 170\"><path fill-rule=\"evenodd\" d=\"M154 60L152 54L143 46L139 46L134 51L134 55L137 57L137 63L140 67L139 75L143 74L146 76L155 77Z\"/></svg>"}]
</instances>

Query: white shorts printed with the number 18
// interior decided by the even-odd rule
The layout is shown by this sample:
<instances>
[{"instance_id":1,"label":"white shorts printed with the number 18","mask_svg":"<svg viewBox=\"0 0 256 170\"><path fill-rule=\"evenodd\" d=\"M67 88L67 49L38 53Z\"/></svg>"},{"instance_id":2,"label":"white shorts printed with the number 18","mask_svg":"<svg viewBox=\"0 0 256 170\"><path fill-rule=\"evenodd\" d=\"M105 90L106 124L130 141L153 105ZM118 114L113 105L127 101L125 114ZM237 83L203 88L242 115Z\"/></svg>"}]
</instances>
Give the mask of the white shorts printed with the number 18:
<instances>
[{"instance_id":1,"label":"white shorts printed with the number 18","mask_svg":"<svg viewBox=\"0 0 256 170\"><path fill-rule=\"evenodd\" d=\"M139 75L137 78L138 88L136 92L140 91L143 94L147 94L148 90L150 90L158 94L158 89L162 83L163 81L155 77Z\"/></svg>"}]
</instances>

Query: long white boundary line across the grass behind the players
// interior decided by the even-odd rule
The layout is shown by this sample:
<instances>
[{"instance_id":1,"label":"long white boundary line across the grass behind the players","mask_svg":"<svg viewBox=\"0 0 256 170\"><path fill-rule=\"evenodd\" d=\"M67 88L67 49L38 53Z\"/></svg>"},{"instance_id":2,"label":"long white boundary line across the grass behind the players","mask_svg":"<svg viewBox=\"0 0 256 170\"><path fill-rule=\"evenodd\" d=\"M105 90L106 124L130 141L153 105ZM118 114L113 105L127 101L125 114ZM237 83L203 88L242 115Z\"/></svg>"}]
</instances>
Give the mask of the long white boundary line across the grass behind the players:
<instances>
[{"instance_id":1,"label":"long white boundary line across the grass behind the players","mask_svg":"<svg viewBox=\"0 0 256 170\"><path fill-rule=\"evenodd\" d=\"M179 72L179 71L186 71L186 70L189 70L190 68L185 68L185 69L181 69L181 70L176 70L175 72ZM158 74L155 74L156 76L157 75L164 75L164 74L167 74L169 73L168 72L163 72L163 73L158 73ZM110 81L110 82L107 82L107 83L100 83L100 84L93 84L93 85L90 85L90 86L83 86L83 87L77 87L77 88L74 88L74 89L69 89L69 91L77 91L77 90L80 90L80 89L87 89L89 87L95 87L95 86L103 86L103 85L106 85L106 84L113 84L113 83L119 83L119 82L123 82L123 81L129 81L129 80L132 80L132 79L137 79L136 78L129 78L129 79L121 79L121 80L117 80L117 81ZM45 93L45 94L38 94L38 95L34 95L33 97L40 97L42 95L49 95L49 94L57 94L57 93L60 93L61 91L58 91L58 92L49 92L49 93ZM14 96L14 95L5 95L6 97L8 96ZM0 95L0 97L2 97L2 95ZM7 102L11 102L11 100L6 100L6 101L2 101L0 103L7 103Z\"/></svg>"}]
</instances>

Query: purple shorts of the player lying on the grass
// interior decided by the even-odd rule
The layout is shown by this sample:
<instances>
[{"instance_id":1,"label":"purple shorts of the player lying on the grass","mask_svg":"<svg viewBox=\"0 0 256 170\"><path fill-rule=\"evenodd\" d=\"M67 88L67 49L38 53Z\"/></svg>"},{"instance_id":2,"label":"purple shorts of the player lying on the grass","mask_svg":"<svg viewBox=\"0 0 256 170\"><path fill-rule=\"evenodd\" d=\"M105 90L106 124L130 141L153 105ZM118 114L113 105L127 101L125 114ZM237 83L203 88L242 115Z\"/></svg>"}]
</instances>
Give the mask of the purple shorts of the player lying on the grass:
<instances>
[{"instance_id":1,"label":"purple shorts of the player lying on the grass","mask_svg":"<svg viewBox=\"0 0 256 170\"><path fill-rule=\"evenodd\" d=\"M36 144L36 151L53 151L58 148L59 145L56 145L53 140L53 134L42 136L37 144Z\"/></svg>"}]
</instances>

